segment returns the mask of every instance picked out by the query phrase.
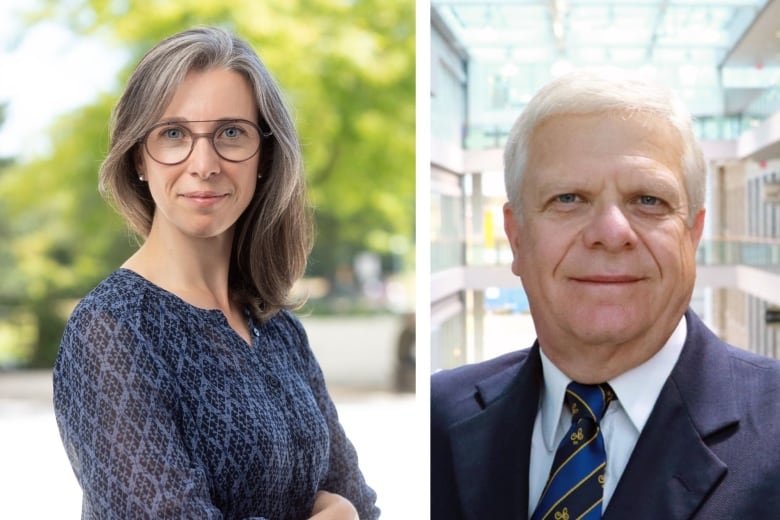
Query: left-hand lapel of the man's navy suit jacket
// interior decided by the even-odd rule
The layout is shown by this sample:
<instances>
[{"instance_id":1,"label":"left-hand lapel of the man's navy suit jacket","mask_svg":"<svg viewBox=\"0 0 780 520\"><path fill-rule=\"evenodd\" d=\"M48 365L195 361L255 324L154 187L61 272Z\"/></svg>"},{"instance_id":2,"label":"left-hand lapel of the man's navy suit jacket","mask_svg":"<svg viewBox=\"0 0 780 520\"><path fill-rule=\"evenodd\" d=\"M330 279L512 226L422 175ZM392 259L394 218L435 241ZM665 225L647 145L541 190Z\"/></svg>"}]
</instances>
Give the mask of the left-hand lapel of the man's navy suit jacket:
<instances>
[{"instance_id":1,"label":"left-hand lapel of the man's navy suit jacket","mask_svg":"<svg viewBox=\"0 0 780 520\"><path fill-rule=\"evenodd\" d=\"M468 519L526 518L531 435L539 406L535 345L517 368L477 385L483 410L450 430L453 463Z\"/></svg>"}]
</instances>

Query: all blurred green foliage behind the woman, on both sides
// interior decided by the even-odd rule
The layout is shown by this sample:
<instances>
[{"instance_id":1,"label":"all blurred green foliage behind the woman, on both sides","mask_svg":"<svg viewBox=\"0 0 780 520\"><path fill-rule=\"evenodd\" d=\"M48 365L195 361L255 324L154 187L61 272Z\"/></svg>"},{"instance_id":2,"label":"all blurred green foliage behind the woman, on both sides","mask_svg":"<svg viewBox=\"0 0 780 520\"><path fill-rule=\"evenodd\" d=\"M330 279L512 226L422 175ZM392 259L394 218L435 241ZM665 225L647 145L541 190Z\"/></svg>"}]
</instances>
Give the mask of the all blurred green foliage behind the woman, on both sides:
<instances>
[{"instance_id":1,"label":"all blurred green foliage behind the woman, on both sides","mask_svg":"<svg viewBox=\"0 0 780 520\"><path fill-rule=\"evenodd\" d=\"M412 250L412 0L44 0L34 9L31 23L59 21L129 50L123 78L169 34L199 24L234 30L255 46L296 114L317 212L309 274L332 278L362 250L389 255L399 236ZM9 237L10 255L8 261L0 255L0 294L37 317L37 365L56 353L67 302L134 247L97 193L118 94L61 118L51 129L49 153L0 176L6 226L0 234Z\"/></svg>"}]
</instances>

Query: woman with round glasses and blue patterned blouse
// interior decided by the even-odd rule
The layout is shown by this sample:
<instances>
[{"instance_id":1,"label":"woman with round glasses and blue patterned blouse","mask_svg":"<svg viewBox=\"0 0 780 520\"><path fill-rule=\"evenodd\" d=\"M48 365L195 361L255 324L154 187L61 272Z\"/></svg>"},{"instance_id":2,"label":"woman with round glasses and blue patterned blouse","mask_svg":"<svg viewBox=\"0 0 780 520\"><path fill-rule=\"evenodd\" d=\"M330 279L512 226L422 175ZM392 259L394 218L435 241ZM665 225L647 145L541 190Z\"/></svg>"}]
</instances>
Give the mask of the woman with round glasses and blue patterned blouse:
<instances>
[{"instance_id":1,"label":"woman with round glasses and blue patterned blouse","mask_svg":"<svg viewBox=\"0 0 780 520\"><path fill-rule=\"evenodd\" d=\"M143 244L70 317L54 371L85 518L378 517L288 293L298 140L247 43L176 34L130 77L101 192Z\"/></svg>"}]
</instances>

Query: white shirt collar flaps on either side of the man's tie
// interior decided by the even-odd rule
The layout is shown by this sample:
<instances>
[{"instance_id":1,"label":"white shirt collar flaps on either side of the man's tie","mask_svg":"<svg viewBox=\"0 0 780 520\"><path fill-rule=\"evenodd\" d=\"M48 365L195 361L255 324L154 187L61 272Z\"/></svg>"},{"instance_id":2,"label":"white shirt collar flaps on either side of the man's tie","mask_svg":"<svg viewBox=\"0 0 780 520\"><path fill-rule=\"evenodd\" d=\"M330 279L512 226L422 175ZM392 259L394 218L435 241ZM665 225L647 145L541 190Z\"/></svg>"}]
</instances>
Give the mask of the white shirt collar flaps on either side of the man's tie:
<instances>
[{"instance_id":1,"label":"white shirt collar flaps on either side of the man's tie","mask_svg":"<svg viewBox=\"0 0 780 520\"><path fill-rule=\"evenodd\" d=\"M608 381L618 397L618 403L639 433L645 427L661 388L680 357L687 333L688 327L683 316L664 346L653 357ZM552 451L556 448L555 433L563 413L563 397L571 379L550 361L542 349L539 353L544 375L539 407L542 436L547 449Z\"/></svg>"}]
</instances>

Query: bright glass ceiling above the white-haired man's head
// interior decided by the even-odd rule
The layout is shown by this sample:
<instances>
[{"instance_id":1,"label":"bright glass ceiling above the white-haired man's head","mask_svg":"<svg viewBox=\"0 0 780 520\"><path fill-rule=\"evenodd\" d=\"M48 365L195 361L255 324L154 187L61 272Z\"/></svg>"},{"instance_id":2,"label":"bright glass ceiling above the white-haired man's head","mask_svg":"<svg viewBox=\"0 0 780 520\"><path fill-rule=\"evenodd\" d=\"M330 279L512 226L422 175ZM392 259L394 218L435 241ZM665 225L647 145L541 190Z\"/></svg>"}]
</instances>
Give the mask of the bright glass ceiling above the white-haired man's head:
<instances>
[{"instance_id":1,"label":"bright glass ceiling above the white-haired man's head","mask_svg":"<svg viewBox=\"0 0 780 520\"><path fill-rule=\"evenodd\" d=\"M742 86L729 81L746 81L756 71L742 67L734 74L724 64L766 4L767 0L432 0L431 15L434 26L446 27L450 43L468 61L465 144L472 148L494 146L496 136L505 133L530 97L553 77L572 68L599 66L636 71L668 84L702 124L707 118L731 118L725 130L722 121L718 128L710 128L710 133L719 134L712 137L731 137L723 134L739 133L750 124L742 119L748 100L756 94L744 89L730 92L729 88ZM754 116L762 115L768 114ZM736 125L734 118L740 119Z\"/></svg>"}]
</instances>

